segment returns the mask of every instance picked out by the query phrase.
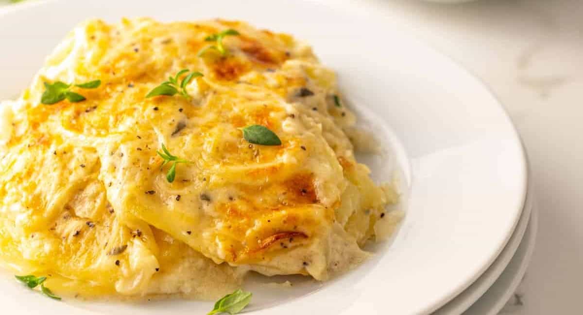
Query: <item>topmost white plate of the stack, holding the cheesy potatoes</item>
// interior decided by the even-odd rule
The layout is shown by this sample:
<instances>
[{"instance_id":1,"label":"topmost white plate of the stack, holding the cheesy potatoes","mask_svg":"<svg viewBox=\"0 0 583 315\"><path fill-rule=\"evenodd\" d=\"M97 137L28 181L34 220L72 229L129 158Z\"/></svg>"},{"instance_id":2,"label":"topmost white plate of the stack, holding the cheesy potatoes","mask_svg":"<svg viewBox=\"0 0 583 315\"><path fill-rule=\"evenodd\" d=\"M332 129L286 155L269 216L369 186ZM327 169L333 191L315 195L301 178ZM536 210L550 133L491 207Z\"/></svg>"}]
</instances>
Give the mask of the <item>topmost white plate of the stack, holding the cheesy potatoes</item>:
<instances>
[{"instance_id":1,"label":"topmost white plate of the stack, holding the cheesy potatoes","mask_svg":"<svg viewBox=\"0 0 583 315\"><path fill-rule=\"evenodd\" d=\"M392 244L374 248L374 259L323 286L307 285L286 303L267 307L258 298L249 308L254 314L429 313L472 284L504 248L526 191L524 154L510 119L476 78L364 4L27 3L0 18L0 40L10 48L0 49L0 97L26 87L44 56L80 20L103 17L115 22L122 16L144 15L162 20L243 19L307 40L322 62L338 71L343 94L366 118L363 126L374 130L391 152L390 159L369 160L375 176L387 179L396 164L410 188L401 230ZM30 313L89 313L70 301L43 299L12 281L0 281L0 291L0 303L11 312L22 312L26 305ZM201 314L211 307L195 301L120 304L108 313Z\"/></svg>"}]
</instances>

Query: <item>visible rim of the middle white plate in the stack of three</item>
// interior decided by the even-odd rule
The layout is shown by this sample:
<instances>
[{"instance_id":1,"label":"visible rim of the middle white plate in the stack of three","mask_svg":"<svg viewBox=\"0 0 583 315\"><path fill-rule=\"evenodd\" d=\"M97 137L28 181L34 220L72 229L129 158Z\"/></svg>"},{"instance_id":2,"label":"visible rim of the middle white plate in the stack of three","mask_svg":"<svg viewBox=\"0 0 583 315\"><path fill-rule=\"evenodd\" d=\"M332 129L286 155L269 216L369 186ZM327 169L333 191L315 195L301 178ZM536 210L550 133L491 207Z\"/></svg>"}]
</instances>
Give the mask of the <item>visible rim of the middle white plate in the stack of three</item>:
<instances>
[{"instance_id":1,"label":"visible rim of the middle white plate in the stack of three","mask_svg":"<svg viewBox=\"0 0 583 315\"><path fill-rule=\"evenodd\" d=\"M531 213L533 212L534 196L532 183L529 183L529 189L526 193L526 201L522 215L518 221L517 227L512 233L512 237L500 253L494 263L490 265L480 277L473 282L467 289L449 301L446 305L440 307L433 315L450 315L461 314L467 310L478 299L482 299L484 293L493 286L494 282L499 281L500 275L505 272L508 264L511 262L519 245L523 242L523 237L527 227L531 224ZM532 230L532 228L531 228ZM468 313L473 314L473 313Z\"/></svg>"}]
</instances>

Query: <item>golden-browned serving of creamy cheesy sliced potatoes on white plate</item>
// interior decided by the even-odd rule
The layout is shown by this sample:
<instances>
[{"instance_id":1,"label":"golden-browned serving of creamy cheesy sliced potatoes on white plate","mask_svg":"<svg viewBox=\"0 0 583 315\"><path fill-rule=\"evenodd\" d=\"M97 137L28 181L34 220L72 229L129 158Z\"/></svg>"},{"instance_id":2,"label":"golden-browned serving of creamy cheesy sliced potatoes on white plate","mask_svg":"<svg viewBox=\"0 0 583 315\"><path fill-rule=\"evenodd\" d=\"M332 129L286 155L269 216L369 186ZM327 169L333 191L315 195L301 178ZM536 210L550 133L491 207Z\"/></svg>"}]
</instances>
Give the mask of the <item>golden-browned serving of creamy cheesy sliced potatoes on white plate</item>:
<instances>
[{"instance_id":1,"label":"golden-browned serving of creamy cheesy sliced potatoes on white plate","mask_svg":"<svg viewBox=\"0 0 583 315\"><path fill-rule=\"evenodd\" d=\"M225 53L205 40L224 30ZM181 69L188 97L148 92ZM45 83L86 99L41 103ZM0 258L58 293L215 298L246 271L317 280L366 257L395 192L368 177L335 74L290 35L242 22L76 27L0 107ZM281 145L251 144L269 128ZM161 168L162 145L188 160ZM384 217L384 219L382 219Z\"/></svg>"}]
</instances>

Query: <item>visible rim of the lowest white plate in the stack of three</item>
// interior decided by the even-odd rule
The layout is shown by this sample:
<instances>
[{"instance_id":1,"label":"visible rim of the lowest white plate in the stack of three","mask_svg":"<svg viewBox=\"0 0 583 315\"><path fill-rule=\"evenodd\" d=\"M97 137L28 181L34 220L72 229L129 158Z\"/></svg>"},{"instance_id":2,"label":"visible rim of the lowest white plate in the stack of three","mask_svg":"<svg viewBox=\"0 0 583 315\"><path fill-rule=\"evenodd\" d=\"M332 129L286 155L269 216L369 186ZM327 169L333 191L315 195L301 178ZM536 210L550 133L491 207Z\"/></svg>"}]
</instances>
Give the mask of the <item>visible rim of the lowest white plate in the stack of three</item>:
<instances>
[{"instance_id":1,"label":"visible rim of the lowest white plate in the stack of three","mask_svg":"<svg viewBox=\"0 0 583 315\"><path fill-rule=\"evenodd\" d=\"M500 278L484 293L484 295L470 307L464 315L496 315L503 310L508 299L511 299L516 289L522 282L532 252L536 244L536 231L538 231L538 209L533 206L531 220L524 233L524 238L508 267L500 275Z\"/></svg>"}]
</instances>

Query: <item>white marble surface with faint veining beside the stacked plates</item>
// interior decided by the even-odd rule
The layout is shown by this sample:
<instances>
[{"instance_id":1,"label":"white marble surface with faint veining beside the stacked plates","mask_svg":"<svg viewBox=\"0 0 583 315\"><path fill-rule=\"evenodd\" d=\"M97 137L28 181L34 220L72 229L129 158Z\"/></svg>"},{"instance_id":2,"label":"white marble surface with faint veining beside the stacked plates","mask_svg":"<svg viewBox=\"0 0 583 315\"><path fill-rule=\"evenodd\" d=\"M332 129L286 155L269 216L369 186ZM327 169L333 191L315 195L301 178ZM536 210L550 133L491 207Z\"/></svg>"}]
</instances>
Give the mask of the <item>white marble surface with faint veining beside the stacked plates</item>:
<instances>
[{"instance_id":1,"label":"white marble surface with faint veining beside the stacked plates","mask_svg":"<svg viewBox=\"0 0 583 315\"><path fill-rule=\"evenodd\" d=\"M581 314L583 1L357 2L384 10L482 78L524 139L539 235L525 280L503 313Z\"/></svg>"}]
</instances>

